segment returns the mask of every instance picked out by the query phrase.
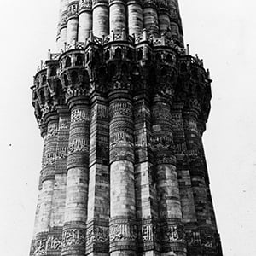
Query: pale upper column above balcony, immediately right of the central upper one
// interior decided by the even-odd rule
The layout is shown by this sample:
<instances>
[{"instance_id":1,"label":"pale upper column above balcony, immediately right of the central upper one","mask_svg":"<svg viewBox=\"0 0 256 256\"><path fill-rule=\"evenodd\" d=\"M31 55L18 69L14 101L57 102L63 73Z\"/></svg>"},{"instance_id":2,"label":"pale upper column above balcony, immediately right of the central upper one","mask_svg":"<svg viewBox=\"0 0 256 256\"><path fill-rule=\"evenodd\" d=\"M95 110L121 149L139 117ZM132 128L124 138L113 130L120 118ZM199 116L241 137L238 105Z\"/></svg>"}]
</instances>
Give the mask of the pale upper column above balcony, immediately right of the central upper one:
<instances>
[{"instance_id":1,"label":"pale upper column above balcony, immediately right of the central upper one","mask_svg":"<svg viewBox=\"0 0 256 256\"><path fill-rule=\"evenodd\" d=\"M143 33L143 7L139 0L129 0L127 2L128 12L128 34L135 37Z\"/></svg>"}]
</instances>

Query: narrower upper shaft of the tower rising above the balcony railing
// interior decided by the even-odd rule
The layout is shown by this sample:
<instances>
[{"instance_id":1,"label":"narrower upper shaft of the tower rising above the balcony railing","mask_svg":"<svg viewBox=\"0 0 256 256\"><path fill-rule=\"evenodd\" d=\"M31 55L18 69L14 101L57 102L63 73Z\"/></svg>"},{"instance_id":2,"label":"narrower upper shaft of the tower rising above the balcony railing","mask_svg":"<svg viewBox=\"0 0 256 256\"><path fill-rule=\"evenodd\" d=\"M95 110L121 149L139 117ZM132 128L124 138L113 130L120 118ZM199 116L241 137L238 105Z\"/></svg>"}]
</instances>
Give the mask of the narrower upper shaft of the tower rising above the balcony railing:
<instances>
[{"instance_id":1,"label":"narrower upper shaft of the tower rising above the balcony railing","mask_svg":"<svg viewBox=\"0 0 256 256\"><path fill-rule=\"evenodd\" d=\"M61 0L57 48L84 43L90 32L102 38L125 31L136 38L144 29L153 38L166 35L183 47L177 0Z\"/></svg>"}]
</instances>

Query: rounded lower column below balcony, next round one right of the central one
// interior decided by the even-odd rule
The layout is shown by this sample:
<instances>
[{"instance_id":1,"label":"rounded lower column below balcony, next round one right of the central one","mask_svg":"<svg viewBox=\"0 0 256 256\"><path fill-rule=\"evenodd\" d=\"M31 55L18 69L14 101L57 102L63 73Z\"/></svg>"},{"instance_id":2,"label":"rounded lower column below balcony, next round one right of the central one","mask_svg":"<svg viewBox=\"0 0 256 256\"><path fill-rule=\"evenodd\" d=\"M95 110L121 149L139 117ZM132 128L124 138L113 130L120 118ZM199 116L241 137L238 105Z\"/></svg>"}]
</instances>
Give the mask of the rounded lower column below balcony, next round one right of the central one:
<instances>
[{"instance_id":1,"label":"rounded lower column below balcony, next round one right of the central one","mask_svg":"<svg viewBox=\"0 0 256 256\"><path fill-rule=\"evenodd\" d=\"M154 96L153 144L157 172L161 255L186 256L183 219L173 152L172 97Z\"/></svg>"}]
</instances>

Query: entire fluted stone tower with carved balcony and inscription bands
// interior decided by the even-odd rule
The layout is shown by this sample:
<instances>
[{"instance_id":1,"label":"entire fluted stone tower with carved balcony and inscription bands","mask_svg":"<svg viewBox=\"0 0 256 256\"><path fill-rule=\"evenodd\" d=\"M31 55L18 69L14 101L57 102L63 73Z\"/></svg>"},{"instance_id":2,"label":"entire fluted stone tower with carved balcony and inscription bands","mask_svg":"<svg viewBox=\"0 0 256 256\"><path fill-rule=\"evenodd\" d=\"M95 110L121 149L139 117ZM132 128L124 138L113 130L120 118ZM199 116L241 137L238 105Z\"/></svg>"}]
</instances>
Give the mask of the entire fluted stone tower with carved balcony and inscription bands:
<instances>
[{"instance_id":1,"label":"entire fluted stone tower with carved balcony and inscription bands","mask_svg":"<svg viewBox=\"0 0 256 256\"><path fill-rule=\"evenodd\" d=\"M193 3L190 3L193 4ZM31 256L221 256L202 135L209 72L177 0L61 0L34 77L44 138Z\"/></svg>"}]
</instances>

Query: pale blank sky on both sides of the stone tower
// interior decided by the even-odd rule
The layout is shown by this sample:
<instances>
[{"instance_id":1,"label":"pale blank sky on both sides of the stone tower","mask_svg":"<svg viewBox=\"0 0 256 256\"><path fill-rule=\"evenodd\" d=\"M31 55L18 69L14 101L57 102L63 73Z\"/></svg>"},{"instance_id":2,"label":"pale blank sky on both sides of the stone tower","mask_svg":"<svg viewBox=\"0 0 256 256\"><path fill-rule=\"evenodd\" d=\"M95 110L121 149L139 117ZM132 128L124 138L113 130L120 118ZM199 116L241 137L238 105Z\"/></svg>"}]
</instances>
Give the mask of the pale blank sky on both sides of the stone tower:
<instances>
[{"instance_id":1,"label":"pale blank sky on both sides of the stone tower","mask_svg":"<svg viewBox=\"0 0 256 256\"><path fill-rule=\"evenodd\" d=\"M204 144L224 256L255 256L256 3L179 2L185 43L213 79ZM43 148L30 87L55 49L59 0L0 3L0 254L28 256Z\"/></svg>"}]
</instances>

